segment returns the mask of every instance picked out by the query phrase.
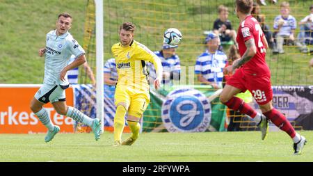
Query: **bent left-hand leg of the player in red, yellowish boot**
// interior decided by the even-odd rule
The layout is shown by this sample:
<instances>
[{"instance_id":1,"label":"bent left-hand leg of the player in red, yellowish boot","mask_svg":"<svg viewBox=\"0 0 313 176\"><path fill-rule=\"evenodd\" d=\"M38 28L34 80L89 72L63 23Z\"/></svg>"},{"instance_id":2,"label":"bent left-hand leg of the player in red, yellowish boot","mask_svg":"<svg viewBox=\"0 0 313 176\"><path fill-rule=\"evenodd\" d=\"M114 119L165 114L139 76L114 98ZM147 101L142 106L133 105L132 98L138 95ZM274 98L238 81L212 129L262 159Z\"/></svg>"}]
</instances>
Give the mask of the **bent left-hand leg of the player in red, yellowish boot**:
<instances>
[{"instance_id":1,"label":"bent left-hand leg of the player in red, yellowish boot","mask_svg":"<svg viewBox=\"0 0 313 176\"><path fill-rule=\"evenodd\" d=\"M243 99L240 99L239 97L234 97L234 95L237 95L238 93L241 93L241 90L239 88L226 85L225 88L223 88L222 93L220 94L220 102L225 104L228 108L233 109L234 111L239 111L240 113L249 115L253 120L255 120L262 132L262 140L264 140L268 134L268 121L266 117L255 111L255 109L252 109L248 104L243 101Z\"/></svg>"}]
</instances>

